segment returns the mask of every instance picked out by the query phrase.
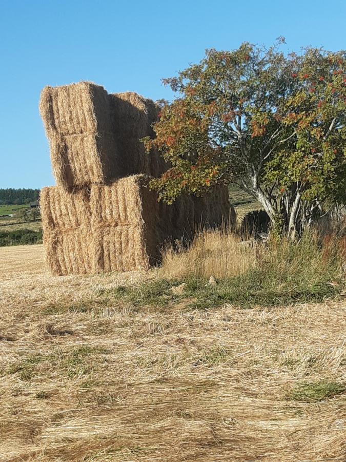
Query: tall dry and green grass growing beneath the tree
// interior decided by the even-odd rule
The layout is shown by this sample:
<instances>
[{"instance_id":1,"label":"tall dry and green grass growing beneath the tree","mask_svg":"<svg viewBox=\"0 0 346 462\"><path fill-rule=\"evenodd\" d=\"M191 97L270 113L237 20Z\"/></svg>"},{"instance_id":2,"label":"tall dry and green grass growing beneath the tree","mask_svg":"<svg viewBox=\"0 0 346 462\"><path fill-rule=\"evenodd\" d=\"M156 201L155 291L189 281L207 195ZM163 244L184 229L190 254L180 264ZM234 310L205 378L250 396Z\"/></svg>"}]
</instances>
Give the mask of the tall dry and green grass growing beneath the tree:
<instances>
[{"instance_id":1,"label":"tall dry and green grass growing beneath the tree","mask_svg":"<svg viewBox=\"0 0 346 462\"><path fill-rule=\"evenodd\" d=\"M222 230L206 231L187 249L164 251L162 278L187 282L204 308L222 302L245 307L322 301L343 290L345 239L311 229L296 242L272 239L264 244L241 242ZM210 276L217 279L214 288L206 286Z\"/></svg>"}]
</instances>

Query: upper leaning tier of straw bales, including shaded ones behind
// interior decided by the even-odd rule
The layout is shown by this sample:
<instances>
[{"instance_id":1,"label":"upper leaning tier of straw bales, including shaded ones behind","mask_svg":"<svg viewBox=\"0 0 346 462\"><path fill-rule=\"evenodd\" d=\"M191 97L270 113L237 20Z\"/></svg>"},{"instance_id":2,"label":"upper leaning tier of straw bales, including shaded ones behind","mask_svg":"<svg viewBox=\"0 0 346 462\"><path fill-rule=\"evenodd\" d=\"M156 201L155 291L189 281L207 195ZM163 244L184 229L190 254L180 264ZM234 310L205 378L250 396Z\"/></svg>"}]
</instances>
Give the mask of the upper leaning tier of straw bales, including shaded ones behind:
<instances>
[{"instance_id":1,"label":"upper leaning tier of straw bales, including shaded ones behind","mask_svg":"<svg viewBox=\"0 0 346 462\"><path fill-rule=\"evenodd\" d=\"M165 169L158 153L148 158L139 141L153 136L157 108L151 100L80 82L45 87L39 108L54 176L65 190L139 173L158 176Z\"/></svg>"}]
</instances>

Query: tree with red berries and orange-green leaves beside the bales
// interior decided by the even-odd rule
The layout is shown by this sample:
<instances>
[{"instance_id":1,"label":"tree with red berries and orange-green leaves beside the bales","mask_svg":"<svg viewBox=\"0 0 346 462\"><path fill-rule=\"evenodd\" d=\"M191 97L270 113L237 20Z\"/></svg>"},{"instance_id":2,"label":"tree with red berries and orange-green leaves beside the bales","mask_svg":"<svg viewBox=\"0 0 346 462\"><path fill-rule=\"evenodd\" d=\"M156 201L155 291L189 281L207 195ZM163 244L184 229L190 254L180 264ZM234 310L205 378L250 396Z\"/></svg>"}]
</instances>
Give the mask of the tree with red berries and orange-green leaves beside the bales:
<instances>
[{"instance_id":1,"label":"tree with red berries and orange-green leaves beside the bales","mask_svg":"<svg viewBox=\"0 0 346 462\"><path fill-rule=\"evenodd\" d=\"M290 238L346 201L346 53L249 43L166 79L155 147L170 168L151 187L168 203L234 183Z\"/></svg>"}]
</instances>

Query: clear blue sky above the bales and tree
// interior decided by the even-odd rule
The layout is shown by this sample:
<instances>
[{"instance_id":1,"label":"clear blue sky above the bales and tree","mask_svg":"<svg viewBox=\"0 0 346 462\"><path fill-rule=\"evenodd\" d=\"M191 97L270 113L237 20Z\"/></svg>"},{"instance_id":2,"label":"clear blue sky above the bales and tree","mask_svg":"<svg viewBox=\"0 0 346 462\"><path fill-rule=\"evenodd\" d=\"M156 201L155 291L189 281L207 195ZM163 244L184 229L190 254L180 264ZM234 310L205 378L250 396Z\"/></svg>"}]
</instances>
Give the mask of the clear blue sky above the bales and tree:
<instances>
[{"instance_id":1,"label":"clear blue sky above the bales and tree","mask_svg":"<svg viewBox=\"0 0 346 462\"><path fill-rule=\"evenodd\" d=\"M90 80L171 99L161 78L242 42L346 48L346 0L0 2L0 188L54 184L38 113L45 85Z\"/></svg>"}]
</instances>

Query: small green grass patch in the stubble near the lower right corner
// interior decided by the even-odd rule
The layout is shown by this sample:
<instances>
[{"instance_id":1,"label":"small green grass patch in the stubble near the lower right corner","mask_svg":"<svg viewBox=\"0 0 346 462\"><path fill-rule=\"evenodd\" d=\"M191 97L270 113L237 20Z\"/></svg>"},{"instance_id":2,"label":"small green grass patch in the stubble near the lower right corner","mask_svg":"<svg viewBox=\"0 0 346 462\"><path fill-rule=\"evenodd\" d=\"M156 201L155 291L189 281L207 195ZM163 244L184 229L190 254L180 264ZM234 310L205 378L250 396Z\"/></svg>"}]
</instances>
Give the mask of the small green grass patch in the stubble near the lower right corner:
<instances>
[{"instance_id":1,"label":"small green grass patch in the stubble near the lower right corner","mask_svg":"<svg viewBox=\"0 0 346 462\"><path fill-rule=\"evenodd\" d=\"M293 401L317 402L333 398L345 391L346 386L344 383L318 380L299 383L288 395L288 398Z\"/></svg>"}]
</instances>

